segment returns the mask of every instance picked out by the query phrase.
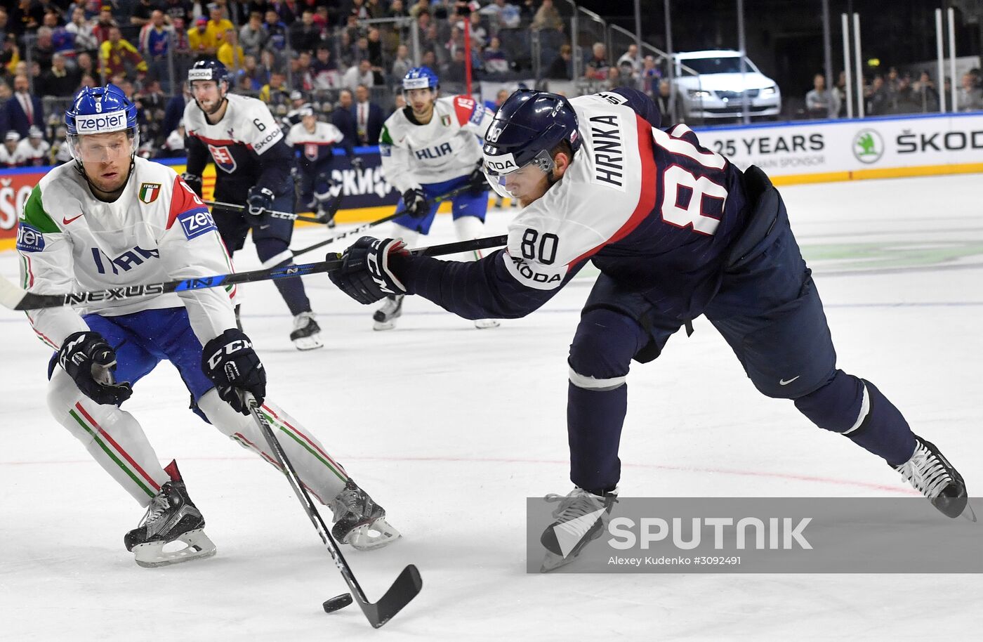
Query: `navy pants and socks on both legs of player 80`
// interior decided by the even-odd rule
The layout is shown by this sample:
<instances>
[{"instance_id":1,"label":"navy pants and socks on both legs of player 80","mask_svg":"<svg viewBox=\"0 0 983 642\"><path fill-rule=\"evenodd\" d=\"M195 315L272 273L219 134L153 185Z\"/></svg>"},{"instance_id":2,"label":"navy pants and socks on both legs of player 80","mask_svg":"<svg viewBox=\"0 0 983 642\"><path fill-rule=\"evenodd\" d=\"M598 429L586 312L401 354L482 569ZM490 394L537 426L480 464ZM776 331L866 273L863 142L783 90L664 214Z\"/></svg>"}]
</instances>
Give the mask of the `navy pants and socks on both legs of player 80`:
<instances>
[{"instance_id":1,"label":"navy pants and socks on both legs of player 80","mask_svg":"<svg viewBox=\"0 0 983 642\"><path fill-rule=\"evenodd\" d=\"M914 436L873 384L837 370L822 301L781 199L777 206L769 233L731 263L704 314L762 393L795 399L796 408L820 428L901 463L914 450ZM630 363L658 357L681 326L644 294L605 274L598 278L568 360L570 479L580 488L601 494L617 485Z\"/></svg>"}]
</instances>

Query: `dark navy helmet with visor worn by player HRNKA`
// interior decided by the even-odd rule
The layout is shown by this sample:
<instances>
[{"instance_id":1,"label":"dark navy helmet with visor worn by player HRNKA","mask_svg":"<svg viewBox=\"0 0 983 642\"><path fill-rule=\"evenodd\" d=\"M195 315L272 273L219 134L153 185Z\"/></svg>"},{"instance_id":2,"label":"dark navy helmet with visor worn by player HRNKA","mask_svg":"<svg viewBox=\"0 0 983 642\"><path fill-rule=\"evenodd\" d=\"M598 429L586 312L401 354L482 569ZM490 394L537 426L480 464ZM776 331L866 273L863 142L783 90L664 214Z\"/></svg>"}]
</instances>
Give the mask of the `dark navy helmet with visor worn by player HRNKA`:
<instances>
[{"instance_id":1,"label":"dark navy helmet with visor worn by player HRNKA","mask_svg":"<svg viewBox=\"0 0 983 642\"><path fill-rule=\"evenodd\" d=\"M485 133L482 151L489 182L499 195L514 197L504 189L505 177L530 164L549 176L554 166L550 151L564 141L574 153L580 148L577 114L570 101L547 91L514 91Z\"/></svg>"}]
</instances>

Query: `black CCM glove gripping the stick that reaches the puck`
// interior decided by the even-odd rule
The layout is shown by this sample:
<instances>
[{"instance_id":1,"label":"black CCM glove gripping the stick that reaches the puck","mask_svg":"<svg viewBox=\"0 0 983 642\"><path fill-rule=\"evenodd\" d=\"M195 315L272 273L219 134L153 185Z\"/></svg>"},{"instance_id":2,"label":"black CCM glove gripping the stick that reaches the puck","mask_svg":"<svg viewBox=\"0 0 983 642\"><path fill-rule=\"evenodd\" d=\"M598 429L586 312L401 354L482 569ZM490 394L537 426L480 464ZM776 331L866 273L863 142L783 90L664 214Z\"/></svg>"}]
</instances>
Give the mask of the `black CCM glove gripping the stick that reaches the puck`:
<instances>
[{"instance_id":1,"label":"black CCM glove gripping the stick that reaches the puck","mask_svg":"<svg viewBox=\"0 0 983 642\"><path fill-rule=\"evenodd\" d=\"M218 396L236 412L249 414L242 392L252 392L262 403L266 396L266 371L253 342L237 327L231 327L204 344L202 370L218 390Z\"/></svg>"}]
</instances>

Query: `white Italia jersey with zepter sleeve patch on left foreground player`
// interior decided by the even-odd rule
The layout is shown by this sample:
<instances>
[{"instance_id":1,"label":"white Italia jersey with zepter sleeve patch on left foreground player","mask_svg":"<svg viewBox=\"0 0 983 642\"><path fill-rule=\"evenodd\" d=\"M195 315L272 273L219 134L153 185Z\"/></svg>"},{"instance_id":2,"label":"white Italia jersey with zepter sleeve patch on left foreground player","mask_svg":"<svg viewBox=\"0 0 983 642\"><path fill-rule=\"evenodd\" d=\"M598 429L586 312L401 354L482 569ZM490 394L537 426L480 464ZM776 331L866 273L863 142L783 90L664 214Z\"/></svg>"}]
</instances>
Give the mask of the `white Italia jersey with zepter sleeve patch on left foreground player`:
<instances>
[{"instance_id":1,"label":"white Italia jersey with zepter sleeve patch on left foreground player","mask_svg":"<svg viewBox=\"0 0 983 642\"><path fill-rule=\"evenodd\" d=\"M95 199L76 164L48 172L30 193L18 224L22 287L64 294L233 271L207 207L173 169L144 158L113 203ZM188 309L202 344L235 327L235 288L190 290L48 308L28 313L34 331L54 348L86 330L82 316L106 317L141 310Z\"/></svg>"}]
</instances>

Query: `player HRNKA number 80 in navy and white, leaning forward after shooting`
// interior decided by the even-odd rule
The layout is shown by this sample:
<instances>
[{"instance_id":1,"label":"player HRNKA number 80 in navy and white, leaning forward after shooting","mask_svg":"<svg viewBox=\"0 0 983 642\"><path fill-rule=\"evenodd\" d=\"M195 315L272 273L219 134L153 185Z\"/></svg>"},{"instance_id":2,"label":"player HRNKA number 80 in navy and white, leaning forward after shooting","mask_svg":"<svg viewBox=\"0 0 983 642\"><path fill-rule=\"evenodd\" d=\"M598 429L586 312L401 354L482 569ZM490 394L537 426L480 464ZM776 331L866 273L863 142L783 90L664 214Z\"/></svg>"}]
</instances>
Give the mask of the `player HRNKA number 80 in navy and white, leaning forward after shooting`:
<instances>
[{"instance_id":1,"label":"player HRNKA number 80 in navy and white, leaning forward after shooting","mask_svg":"<svg viewBox=\"0 0 983 642\"><path fill-rule=\"evenodd\" d=\"M741 172L700 146L685 125L630 88L567 100L519 90L485 135L492 186L524 206L508 246L477 263L409 255L399 241L363 237L330 274L362 303L419 294L462 317L523 317L585 263L601 270L569 355L567 430L573 491L544 532L544 570L601 535L620 478L617 456L629 365L662 352L705 315L747 376L792 399L820 428L884 458L950 517L966 489L935 445L915 436L878 388L838 370L811 272L778 191L760 169ZM565 556L554 527L580 537ZM574 524L580 524L575 527Z\"/></svg>"}]
</instances>

